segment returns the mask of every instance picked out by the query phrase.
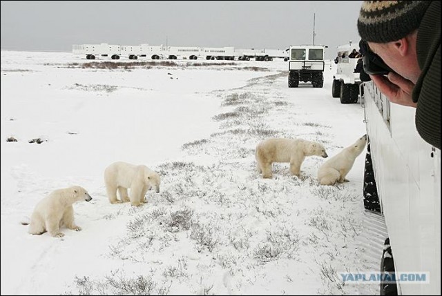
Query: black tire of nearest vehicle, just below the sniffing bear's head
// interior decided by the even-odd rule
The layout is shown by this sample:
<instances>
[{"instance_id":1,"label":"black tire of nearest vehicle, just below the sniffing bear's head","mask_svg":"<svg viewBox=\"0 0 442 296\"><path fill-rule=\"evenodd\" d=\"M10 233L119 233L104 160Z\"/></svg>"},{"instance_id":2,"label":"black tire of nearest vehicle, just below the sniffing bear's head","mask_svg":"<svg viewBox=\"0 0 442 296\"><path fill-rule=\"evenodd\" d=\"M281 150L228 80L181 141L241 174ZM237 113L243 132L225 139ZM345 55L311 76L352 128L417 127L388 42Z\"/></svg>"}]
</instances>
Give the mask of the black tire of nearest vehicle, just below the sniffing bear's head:
<instances>
[{"instance_id":1,"label":"black tire of nearest vehicle, just below the sniffing bear's head","mask_svg":"<svg viewBox=\"0 0 442 296\"><path fill-rule=\"evenodd\" d=\"M376 186L376 179L374 178L372 155L370 154L370 144L367 145L367 155L365 155L363 195L364 208L381 213L378 187Z\"/></svg>"}]
</instances>

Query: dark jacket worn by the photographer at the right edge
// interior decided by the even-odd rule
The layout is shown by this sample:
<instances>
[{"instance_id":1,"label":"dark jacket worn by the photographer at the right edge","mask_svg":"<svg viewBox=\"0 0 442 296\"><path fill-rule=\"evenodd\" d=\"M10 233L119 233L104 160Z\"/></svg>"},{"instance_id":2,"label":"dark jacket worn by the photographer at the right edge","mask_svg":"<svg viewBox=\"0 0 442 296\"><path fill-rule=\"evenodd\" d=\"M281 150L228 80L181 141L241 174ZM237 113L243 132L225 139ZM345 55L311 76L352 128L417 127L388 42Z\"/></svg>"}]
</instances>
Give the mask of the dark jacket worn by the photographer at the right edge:
<instances>
[{"instance_id":1,"label":"dark jacket worn by the photographer at the right edge","mask_svg":"<svg viewBox=\"0 0 442 296\"><path fill-rule=\"evenodd\" d=\"M419 26L417 59L422 70L413 90L416 129L441 149L441 2L432 1Z\"/></svg>"}]
</instances>

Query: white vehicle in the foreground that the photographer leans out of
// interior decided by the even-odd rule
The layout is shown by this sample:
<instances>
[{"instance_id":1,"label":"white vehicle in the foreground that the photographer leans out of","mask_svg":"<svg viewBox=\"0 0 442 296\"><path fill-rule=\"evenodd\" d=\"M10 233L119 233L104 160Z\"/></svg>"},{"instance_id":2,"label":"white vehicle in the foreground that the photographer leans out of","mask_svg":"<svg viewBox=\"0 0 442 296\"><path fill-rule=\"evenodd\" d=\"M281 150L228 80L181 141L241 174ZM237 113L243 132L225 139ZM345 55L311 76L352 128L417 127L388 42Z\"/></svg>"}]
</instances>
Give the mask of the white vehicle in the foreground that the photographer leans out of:
<instances>
[{"instance_id":1,"label":"white vehicle in the foreground that the photographer leans out of","mask_svg":"<svg viewBox=\"0 0 442 296\"><path fill-rule=\"evenodd\" d=\"M399 294L441 295L441 150L416 132L414 108L390 103L372 81L364 83L364 90L369 138L364 204L385 215L392 259L383 259L394 263L396 275L429 275L425 284L401 283L396 277ZM381 295L383 288L392 285L381 285Z\"/></svg>"}]
</instances>

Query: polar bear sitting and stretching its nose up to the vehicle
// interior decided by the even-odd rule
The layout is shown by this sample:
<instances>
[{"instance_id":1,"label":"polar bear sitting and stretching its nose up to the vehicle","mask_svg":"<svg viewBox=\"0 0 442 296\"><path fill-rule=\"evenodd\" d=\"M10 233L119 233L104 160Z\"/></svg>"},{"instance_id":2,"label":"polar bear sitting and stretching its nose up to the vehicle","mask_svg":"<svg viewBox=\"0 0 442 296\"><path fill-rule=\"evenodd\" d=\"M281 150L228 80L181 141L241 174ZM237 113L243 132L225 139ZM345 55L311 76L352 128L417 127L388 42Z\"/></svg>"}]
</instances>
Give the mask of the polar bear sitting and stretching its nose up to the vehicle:
<instances>
[{"instance_id":1,"label":"polar bear sitting and stretching its nose up to the vehicle","mask_svg":"<svg viewBox=\"0 0 442 296\"><path fill-rule=\"evenodd\" d=\"M367 135L359 138L354 144L341 150L337 155L325 161L318 170L318 180L322 185L334 185L336 182L348 182L345 179L352 169L354 160L363 152L367 144Z\"/></svg>"}]
</instances>

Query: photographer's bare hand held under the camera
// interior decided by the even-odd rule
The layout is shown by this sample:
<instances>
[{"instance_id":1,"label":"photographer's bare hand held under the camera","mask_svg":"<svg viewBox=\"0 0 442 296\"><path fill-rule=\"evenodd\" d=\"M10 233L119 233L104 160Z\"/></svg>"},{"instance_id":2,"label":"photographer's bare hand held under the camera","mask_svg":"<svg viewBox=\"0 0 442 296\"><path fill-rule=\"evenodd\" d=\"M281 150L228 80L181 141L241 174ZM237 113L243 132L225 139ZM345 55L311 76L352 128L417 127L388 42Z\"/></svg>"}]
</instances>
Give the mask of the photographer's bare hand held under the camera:
<instances>
[{"instance_id":1,"label":"photographer's bare hand held under the camera","mask_svg":"<svg viewBox=\"0 0 442 296\"><path fill-rule=\"evenodd\" d=\"M414 83L401 75L390 72L388 78L382 75L370 75L374 84L392 103L416 108L417 103L412 100Z\"/></svg>"}]
</instances>

